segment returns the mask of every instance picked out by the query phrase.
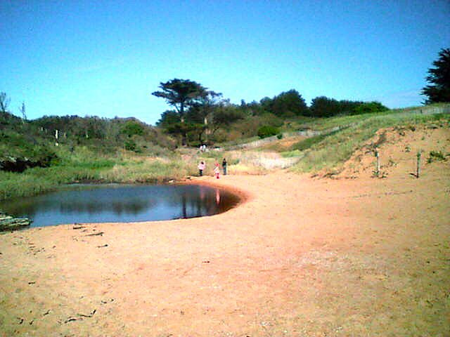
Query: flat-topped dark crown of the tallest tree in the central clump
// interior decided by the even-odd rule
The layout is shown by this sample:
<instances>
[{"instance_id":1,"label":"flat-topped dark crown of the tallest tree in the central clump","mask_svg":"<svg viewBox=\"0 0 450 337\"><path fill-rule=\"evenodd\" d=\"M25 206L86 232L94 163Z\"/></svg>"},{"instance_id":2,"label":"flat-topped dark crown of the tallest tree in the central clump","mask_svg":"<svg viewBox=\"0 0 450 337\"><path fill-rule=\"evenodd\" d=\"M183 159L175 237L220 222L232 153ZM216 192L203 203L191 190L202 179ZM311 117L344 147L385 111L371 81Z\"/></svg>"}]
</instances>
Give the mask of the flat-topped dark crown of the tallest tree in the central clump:
<instances>
[{"instance_id":1,"label":"flat-topped dark crown of the tallest tree in the central clump","mask_svg":"<svg viewBox=\"0 0 450 337\"><path fill-rule=\"evenodd\" d=\"M189 79L172 79L160 83L162 91L155 91L152 95L164 98L169 105L175 107L181 122L184 122L184 109L190 107L196 100L205 95L206 88Z\"/></svg>"}]
</instances>

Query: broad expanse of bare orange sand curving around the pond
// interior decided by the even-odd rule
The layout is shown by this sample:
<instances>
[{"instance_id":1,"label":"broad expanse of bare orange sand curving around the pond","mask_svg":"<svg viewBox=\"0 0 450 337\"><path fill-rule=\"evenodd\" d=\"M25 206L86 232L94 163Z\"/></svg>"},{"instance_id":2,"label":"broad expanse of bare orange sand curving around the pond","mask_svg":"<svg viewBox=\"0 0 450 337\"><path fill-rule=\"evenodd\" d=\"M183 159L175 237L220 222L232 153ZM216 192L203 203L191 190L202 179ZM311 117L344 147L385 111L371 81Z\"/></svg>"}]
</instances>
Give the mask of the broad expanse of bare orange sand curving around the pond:
<instances>
[{"instance_id":1,"label":"broad expanse of bare orange sand curving around the pond","mask_svg":"<svg viewBox=\"0 0 450 337\"><path fill-rule=\"evenodd\" d=\"M450 336L449 161L390 170L204 177L246 201L2 234L0 336Z\"/></svg>"}]
</instances>

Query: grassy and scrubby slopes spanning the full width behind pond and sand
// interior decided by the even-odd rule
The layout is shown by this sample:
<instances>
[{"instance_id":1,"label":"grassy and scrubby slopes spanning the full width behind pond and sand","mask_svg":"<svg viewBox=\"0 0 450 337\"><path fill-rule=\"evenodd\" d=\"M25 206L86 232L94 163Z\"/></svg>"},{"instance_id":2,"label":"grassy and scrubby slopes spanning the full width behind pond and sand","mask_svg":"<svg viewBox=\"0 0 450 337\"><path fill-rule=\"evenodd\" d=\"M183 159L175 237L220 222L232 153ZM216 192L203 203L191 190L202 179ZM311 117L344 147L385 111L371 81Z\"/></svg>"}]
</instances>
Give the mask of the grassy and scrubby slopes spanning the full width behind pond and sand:
<instances>
[{"instance_id":1,"label":"grassy and scrubby slopes spanning the full width behind pond and sand","mask_svg":"<svg viewBox=\"0 0 450 337\"><path fill-rule=\"evenodd\" d=\"M289 169L319 176L355 176L349 168L358 163L345 163L364 148L368 159L361 161L370 163L371 154L367 149L373 150L371 143L380 143L371 140L375 133L389 128L404 132L437 126L442 128L441 137L444 137L449 114L442 112L448 111L449 105L436 105L354 116L286 119L278 136L250 138L250 143L245 138L217 143L208 147L209 152L200 152L196 147L177 147L176 140L161 128L147 126L136 119L42 117L24 123L11 114L2 114L0 199L37 194L61 184L82 181L183 180L197 174L200 160L207 164L205 173L211 174L214 162L222 158L228 160L229 173L233 175ZM423 150L440 151L446 159L447 153L439 147L423 147ZM411 147L411 157L416 151ZM381 155L386 170L385 154ZM428 160L427 155L424 154L424 161Z\"/></svg>"}]
</instances>

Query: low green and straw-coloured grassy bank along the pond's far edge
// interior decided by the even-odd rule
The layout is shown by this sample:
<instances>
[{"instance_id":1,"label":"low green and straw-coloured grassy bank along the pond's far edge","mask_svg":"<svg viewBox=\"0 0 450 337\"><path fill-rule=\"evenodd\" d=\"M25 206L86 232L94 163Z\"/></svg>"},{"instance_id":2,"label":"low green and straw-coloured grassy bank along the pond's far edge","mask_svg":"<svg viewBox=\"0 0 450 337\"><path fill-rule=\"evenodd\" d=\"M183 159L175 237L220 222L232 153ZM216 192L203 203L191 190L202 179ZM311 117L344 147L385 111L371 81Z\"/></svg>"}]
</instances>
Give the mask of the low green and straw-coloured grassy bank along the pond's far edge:
<instances>
[{"instance_id":1,"label":"low green and straw-coloured grassy bank along the pond's far edge","mask_svg":"<svg viewBox=\"0 0 450 337\"><path fill-rule=\"evenodd\" d=\"M0 199L27 197L54 190L59 185L98 183L157 183L195 173L193 165L179 156L147 158L127 153L99 155L86 147L75 152L58 149L58 163L23 173L0 171Z\"/></svg>"}]
</instances>

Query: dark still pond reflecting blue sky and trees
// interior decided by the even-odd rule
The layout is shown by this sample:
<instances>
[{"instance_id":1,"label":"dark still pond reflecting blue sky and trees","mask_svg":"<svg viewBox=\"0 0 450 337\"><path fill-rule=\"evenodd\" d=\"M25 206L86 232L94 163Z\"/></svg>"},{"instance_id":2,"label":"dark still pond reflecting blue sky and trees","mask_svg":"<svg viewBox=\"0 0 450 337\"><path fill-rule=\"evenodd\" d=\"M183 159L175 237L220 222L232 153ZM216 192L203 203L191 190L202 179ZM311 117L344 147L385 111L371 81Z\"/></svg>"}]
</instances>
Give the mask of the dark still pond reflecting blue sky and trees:
<instances>
[{"instance_id":1,"label":"dark still pond reflecting blue sky and trees","mask_svg":"<svg viewBox=\"0 0 450 337\"><path fill-rule=\"evenodd\" d=\"M238 204L234 194L200 185L70 185L57 192L0 202L30 227L127 223L211 216Z\"/></svg>"}]
</instances>

